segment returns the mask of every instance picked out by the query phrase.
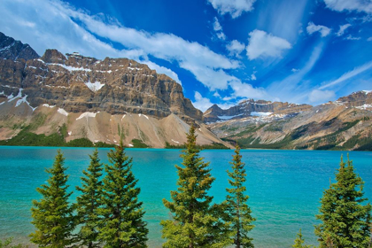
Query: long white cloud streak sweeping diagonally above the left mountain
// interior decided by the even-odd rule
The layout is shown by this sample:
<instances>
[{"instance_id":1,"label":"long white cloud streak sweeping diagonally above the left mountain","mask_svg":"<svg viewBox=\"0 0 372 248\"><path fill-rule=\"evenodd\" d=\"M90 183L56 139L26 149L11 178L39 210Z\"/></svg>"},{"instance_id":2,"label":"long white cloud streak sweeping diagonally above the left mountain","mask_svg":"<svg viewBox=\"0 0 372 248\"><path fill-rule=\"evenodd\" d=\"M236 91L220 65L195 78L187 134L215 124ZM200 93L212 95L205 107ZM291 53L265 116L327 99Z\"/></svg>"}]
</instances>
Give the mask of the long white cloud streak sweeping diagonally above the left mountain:
<instances>
[{"instance_id":1,"label":"long white cloud streak sweeping diagonally above the left mountain","mask_svg":"<svg viewBox=\"0 0 372 248\"><path fill-rule=\"evenodd\" d=\"M150 55L189 70L210 89L226 89L229 82L222 79L229 80L231 76L224 70L240 66L238 61L199 43L173 34L148 33L124 27L118 21L107 21L108 18L102 14L91 16L58 0L4 0L0 16L0 27L4 27L5 35L29 43L41 55L46 48L55 48L63 53L78 51L95 58L132 58L178 80L174 72L149 63ZM29 19L35 23L34 27L18 23ZM102 42L97 36L109 40L109 43ZM120 43L127 50L114 49L110 42ZM213 79L218 81L214 83Z\"/></svg>"}]
</instances>

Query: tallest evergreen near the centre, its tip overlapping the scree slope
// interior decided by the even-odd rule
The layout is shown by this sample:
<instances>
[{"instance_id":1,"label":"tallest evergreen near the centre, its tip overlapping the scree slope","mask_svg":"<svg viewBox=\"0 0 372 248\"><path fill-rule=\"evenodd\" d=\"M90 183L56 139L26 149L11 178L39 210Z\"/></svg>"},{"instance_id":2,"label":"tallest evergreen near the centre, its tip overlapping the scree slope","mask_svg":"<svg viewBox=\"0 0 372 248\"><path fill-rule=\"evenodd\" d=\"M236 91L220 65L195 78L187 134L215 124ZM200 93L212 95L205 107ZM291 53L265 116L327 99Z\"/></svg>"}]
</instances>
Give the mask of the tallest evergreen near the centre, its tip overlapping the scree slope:
<instances>
[{"instance_id":1,"label":"tallest evergreen near the centre, its tip overlapping the scree slope","mask_svg":"<svg viewBox=\"0 0 372 248\"><path fill-rule=\"evenodd\" d=\"M173 213L174 220L161 221L164 247L223 247L229 239L221 236L221 221L215 207L211 206L213 197L207 195L214 178L199 157L195 128L187 134L186 149L182 151L182 166L178 170L178 189L171 191L172 201L163 199L164 205Z\"/></svg>"}]
</instances>

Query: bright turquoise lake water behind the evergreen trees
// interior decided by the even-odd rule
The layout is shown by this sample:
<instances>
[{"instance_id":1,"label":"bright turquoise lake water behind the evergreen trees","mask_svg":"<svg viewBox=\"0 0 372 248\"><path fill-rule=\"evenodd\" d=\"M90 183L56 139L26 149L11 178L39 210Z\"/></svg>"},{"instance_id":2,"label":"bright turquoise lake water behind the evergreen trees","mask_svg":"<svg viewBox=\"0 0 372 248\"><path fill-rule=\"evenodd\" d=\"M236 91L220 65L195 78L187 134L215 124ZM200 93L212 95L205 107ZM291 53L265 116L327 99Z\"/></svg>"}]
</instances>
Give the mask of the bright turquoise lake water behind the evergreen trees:
<instances>
[{"instance_id":1,"label":"bright turquoise lake water behind the evergreen trees","mask_svg":"<svg viewBox=\"0 0 372 248\"><path fill-rule=\"evenodd\" d=\"M70 190L80 185L81 171L89 166L88 155L93 149L62 148L70 174ZM100 149L100 159L107 163L106 153ZM161 247L159 222L169 218L163 198L170 198L177 180L175 164L180 165L179 150L127 149L133 157L133 171L141 187L140 199L146 211L149 247ZM27 235L34 230L30 208L36 192L48 179L45 168L51 167L57 148L0 147L0 238L13 236L15 241L27 243ZM229 161L233 151L201 151L210 161L216 178L209 191L215 202L226 195ZM317 244L314 225L322 191L334 182L334 173L341 154L346 151L241 151L246 163L248 205L257 219L251 236L255 247L291 247L298 229L307 244ZM372 152L351 151L350 158L356 172L365 182L365 196L372 199ZM74 190L73 198L76 197ZM371 201L371 200L370 200Z\"/></svg>"}]
</instances>

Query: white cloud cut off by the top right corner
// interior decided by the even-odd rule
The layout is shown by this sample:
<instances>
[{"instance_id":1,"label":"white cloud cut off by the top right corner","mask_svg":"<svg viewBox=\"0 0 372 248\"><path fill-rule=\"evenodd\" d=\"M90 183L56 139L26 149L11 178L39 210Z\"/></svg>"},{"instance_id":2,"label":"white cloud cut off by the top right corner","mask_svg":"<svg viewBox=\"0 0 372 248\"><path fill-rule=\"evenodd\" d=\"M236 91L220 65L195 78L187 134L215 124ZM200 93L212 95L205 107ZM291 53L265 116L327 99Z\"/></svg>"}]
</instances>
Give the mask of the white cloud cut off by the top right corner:
<instances>
[{"instance_id":1,"label":"white cloud cut off by the top right corner","mask_svg":"<svg viewBox=\"0 0 372 248\"><path fill-rule=\"evenodd\" d=\"M372 2L369 0L324 0L329 9L336 12L372 13Z\"/></svg>"}]
</instances>

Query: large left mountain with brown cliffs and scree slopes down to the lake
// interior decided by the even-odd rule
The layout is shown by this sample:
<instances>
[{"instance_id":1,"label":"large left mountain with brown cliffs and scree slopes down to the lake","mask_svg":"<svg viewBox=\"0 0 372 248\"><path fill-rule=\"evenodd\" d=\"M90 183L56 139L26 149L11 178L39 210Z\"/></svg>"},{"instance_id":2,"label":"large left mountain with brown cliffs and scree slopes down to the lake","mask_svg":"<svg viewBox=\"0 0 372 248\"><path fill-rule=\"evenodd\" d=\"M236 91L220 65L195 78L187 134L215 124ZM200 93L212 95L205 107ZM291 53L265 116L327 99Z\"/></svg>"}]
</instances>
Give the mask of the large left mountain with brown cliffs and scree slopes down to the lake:
<instances>
[{"instance_id":1,"label":"large left mountain with brown cliffs and scree slopes down to the lake","mask_svg":"<svg viewBox=\"0 0 372 248\"><path fill-rule=\"evenodd\" d=\"M199 144L223 143L205 128L182 86L146 65L58 50L28 60L14 55L0 59L1 144L53 144L62 137L164 147L184 143L190 125L198 127Z\"/></svg>"}]
</instances>

